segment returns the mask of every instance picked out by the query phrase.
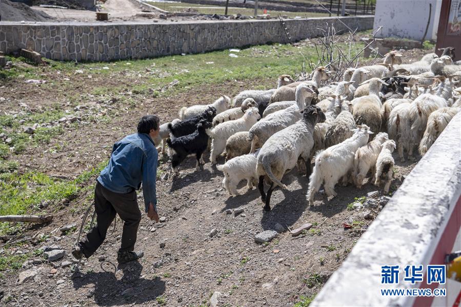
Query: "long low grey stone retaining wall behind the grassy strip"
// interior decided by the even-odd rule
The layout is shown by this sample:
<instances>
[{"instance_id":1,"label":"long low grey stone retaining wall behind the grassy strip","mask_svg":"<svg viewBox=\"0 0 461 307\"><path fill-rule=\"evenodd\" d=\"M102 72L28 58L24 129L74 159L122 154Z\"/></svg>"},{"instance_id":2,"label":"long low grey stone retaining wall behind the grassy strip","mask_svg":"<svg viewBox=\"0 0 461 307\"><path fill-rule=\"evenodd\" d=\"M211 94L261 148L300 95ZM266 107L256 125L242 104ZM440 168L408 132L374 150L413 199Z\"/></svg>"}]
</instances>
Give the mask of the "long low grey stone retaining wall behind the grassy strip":
<instances>
[{"instance_id":1,"label":"long low grey stone retaining wall behind the grassy strip","mask_svg":"<svg viewBox=\"0 0 461 307\"><path fill-rule=\"evenodd\" d=\"M372 16L287 19L293 40L336 30L367 30ZM344 23L344 24L343 24ZM278 20L178 22L178 23L34 23L2 22L0 51L21 48L56 60L116 60L181 53L200 53L232 47L287 43Z\"/></svg>"}]
</instances>

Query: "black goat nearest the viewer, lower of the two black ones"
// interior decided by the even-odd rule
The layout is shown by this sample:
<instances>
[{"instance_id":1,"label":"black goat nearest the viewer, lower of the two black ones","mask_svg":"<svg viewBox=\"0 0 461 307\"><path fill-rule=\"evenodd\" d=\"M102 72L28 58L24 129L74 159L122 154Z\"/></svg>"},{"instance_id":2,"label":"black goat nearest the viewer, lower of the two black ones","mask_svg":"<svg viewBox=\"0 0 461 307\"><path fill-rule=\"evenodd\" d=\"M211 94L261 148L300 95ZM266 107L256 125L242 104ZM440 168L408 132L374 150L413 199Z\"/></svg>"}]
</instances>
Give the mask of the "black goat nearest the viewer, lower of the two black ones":
<instances>
[{"instance_id":1,"label":"black goat nearest the viewer, lower of the two black ones","mask_svg":"<svg viewBox=\"0 0 461 307\"><path fill-rule=\"evenodd\" d=\"M202 154L208 147L208 136L212 124L206 119L201 119L197 124L197 129L189 135L180 136L174 140L167 139L168 147L171 154L171 169L176 175L179 175L177 167L189 155L195 155L197 163L195 170L203 169L201 162Z\"/></svg>"}]
</instances>

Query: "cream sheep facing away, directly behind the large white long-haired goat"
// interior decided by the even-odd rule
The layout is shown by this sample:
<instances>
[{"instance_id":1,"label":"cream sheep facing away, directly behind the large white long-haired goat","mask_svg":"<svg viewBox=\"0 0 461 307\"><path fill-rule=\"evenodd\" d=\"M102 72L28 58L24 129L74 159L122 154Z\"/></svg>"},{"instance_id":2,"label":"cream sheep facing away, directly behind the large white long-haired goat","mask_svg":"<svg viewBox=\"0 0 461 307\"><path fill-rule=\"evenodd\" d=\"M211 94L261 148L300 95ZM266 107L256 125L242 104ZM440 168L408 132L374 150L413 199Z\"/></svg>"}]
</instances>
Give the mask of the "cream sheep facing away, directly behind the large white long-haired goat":
<instances>
[{"instance_id":1,"label":"cream sheep facing away, directly behind the large white long-haired goat","mask_svg":"<svg viewBox=\"0 0 461 307\"><path fill-rule=\"evenodd\" d=\"M332 147L352 136L352 130L355 129L354 116L349 111L349 104L341 105L341 112L331 122L325 135L325 148Z\"/></svg>"}]
</instances>

